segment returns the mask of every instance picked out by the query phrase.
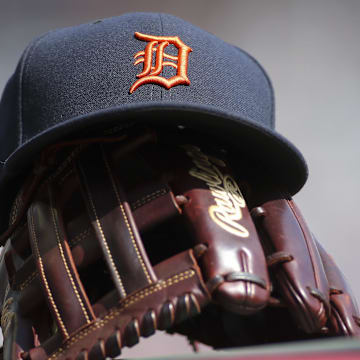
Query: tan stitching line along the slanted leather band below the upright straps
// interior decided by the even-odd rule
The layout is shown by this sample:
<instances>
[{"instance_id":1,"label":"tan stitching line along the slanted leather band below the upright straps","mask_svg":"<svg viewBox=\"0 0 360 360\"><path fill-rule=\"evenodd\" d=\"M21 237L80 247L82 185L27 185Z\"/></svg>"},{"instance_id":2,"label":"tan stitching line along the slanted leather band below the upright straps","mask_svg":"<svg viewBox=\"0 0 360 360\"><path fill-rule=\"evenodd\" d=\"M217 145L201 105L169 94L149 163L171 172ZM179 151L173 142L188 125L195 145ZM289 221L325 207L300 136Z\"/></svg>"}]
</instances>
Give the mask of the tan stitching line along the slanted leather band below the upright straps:
<instances>
[{"instance_id":1,"label":"tan stitching line along the slanted leather band below the upright straps","mask_svg":"<svg viewBox=\"0 0 360 360\"><path fill-rule=\"evenodd\" d=\"M156 283L156 284L150 286L150 288L148 288L148 289L141 290L139 293L130 296L129 299L127 299L122 305L120 305L121 306L120 309L115 308L115 309L110 310L109 313L107 315L105 315L103 319L97 320L94 324L90 325L88 328L84 329L82 332L80 332L80 333L76 334L74 337L72 337L64 347L59 348L59 350L56 353L54 353L53 355L51 355L49 359L56 359L59 355L61 355L62 352L67 350L70 346L76 344L78 341L80 341L81 339L86 337L91 332L104 327L110 320L113 320L114 318L119 316L130 305L142 300L143 298L145 298L153 293L161 291L169 286L172 286L181 281L190 279L193 276L195 276L195 271L192 269L187 270L180 274L176 274L173 277L171 277L165 281Z\"/></svg>"}]
</instances>

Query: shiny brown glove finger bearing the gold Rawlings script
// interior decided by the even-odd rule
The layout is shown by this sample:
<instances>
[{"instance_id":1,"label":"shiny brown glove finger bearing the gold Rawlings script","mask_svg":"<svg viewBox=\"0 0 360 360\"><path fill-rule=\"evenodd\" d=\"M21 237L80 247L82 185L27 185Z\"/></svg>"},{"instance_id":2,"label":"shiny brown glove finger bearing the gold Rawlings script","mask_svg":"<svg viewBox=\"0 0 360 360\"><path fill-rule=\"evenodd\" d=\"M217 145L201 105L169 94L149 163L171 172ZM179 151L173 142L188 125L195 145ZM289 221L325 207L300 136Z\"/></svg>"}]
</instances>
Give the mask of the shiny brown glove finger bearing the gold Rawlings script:
<instances>
[{"instance_id":1,"label":"shiny brown glove finger bearing the gold Rawlings script","mask_svg":"<svg viewBox=\"0 0 360 360\"><path fill-rule=\"evenodd\" d=\"M182 210L199 244L209 291L228 310L241 314L260 310L270 292L266 260L228 165L192 145L179 147L171 159L177 164L171 186L175 194L187 198Z\"/></svg>"}]
</instances>

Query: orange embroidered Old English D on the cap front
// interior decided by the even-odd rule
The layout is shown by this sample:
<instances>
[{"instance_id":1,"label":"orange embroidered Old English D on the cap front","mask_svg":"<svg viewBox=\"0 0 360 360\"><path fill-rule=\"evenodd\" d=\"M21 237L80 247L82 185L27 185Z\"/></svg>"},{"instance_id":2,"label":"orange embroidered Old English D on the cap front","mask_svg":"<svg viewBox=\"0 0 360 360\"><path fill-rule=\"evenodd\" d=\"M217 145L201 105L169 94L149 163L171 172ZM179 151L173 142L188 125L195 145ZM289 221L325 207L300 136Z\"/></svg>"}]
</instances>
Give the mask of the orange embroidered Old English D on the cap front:
<instances>
[{"instance_id":1,"label":"orange embroidered Old English D on the cap front","mask_svg":"<svg viewBox=\"0 0 360 360\"><path fill-rule=\"evenodd\" d=\"M144 84L157 84L166 89L176 85L190 85L187 68L189 53L192 49L185 45L178 36L153 36L136 32L135 37L138 40L147 41L148 44L145 50L134 55L134 65L143 63L143 71L136 75L138 80L131 86L130 94ZM177 56L165 53L166 47L170 44L177 48ZM176 69L176 75L168 79L160 76L164 66Z\"/></svg>"}]
</instances>

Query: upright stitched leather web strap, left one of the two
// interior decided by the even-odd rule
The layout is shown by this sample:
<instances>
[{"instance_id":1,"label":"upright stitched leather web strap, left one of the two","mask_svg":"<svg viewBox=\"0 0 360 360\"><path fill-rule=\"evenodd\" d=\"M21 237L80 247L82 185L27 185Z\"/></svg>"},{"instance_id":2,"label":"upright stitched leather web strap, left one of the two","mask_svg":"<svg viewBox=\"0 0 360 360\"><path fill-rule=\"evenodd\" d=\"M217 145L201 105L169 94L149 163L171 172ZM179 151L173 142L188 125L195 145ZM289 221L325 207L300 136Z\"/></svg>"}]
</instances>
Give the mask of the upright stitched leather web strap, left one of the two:
<instances>
[{"instance_id":1,"label":"upright stitched leather web strap, left one of the two","mask_svg":"<svg viewBox=\"0 0 360 360\"><path fill-rule=\"evenodd\" d=\"M94 314L73 263L53 191L50 186L44 190L29 209L29 234L48 306L63 338L67 339L90 323Z\"/></svg>"}]
</instances>

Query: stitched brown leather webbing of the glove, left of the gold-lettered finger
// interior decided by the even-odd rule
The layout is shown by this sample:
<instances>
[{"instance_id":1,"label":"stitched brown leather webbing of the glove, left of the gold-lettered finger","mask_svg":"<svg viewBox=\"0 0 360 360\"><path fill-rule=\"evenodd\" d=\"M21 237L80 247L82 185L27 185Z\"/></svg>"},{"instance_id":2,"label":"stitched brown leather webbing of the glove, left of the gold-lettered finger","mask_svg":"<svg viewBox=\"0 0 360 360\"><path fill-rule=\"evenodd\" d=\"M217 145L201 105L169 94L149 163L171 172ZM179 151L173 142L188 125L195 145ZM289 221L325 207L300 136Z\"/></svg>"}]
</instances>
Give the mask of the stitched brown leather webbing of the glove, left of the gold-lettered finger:
<instances>
[{"instance_id":1,"label":"stitched brown leather webbing of the glove, left of the gold-lettered finger","mask_svg":"<svg viewBox=\"0 0 360 360\"><path fill-rule=\"evenodd\" d=\"M151 139L145 136L137 146ZM21 351L25 351L23 357L34 359L51 354L75 358L83 351L90 358L105 353L115 356L123 346L137 343L140 335L149 336L197 314L210 299L191 250L153 269L140 232L179 216L181 209L161 177L149 172L149 178L144 178L141 171L121 161L121 156L134 150L131 141L109 158L106 151L112 150L94 145L81 152L76 164L71 155L70 161L65 159L32 202L29 231L24 227L13 236L13 247L6 252L9 260L2 262L2 266L6 263L3 273L11 275L11 291L17 294L16 319L24 317L36 333L25 326L20 331L17 323L9 322L14 330L4 353L10 351L10 358L18 358ZM122 182L119 164L133 174L130 178L136 186ZM22 259L19 263L13 264L13 251ZM96 269L106 272L106 267L125 279L124 293L116 286L116 276L105 276L105 283L99 283L101 274ZM84 336L90 329L92 335ZM34 342L19 347L22 342L16 339L23 331ZM78 346L66 350L67 344L75 342ZM19 344L18 350L13 344ZM56 354L60 347L63 352Z\"/></svg>"}]
</instances>

